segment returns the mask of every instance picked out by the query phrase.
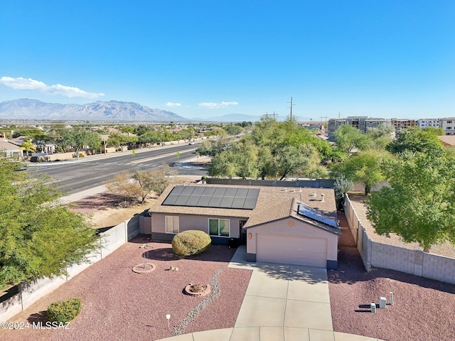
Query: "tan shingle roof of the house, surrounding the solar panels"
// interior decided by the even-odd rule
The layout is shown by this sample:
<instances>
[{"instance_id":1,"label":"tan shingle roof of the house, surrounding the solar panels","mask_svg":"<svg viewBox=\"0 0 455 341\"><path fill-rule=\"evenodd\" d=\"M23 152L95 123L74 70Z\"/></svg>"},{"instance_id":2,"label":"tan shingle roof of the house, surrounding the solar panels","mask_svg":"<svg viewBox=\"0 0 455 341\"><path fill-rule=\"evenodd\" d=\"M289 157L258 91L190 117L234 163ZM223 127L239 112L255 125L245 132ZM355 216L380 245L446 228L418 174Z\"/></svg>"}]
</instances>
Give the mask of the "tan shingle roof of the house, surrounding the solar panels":
<instances>
[{"instance_id":1,"label":"tan shingle roof of the house, surrounding the solar panels","mask_svg":"<svg viewBox=\"0 0 455 341\"><path fill-rule=\"evenodd\" d=\"M300 212L297 204L304 204ZM335 194L331 188L283 188L255 185L169 185L149 212L239 217L247 226L293 217L334 230ZM325 218L324 218L325 217Z\"/></svg>"}]
</instances>

